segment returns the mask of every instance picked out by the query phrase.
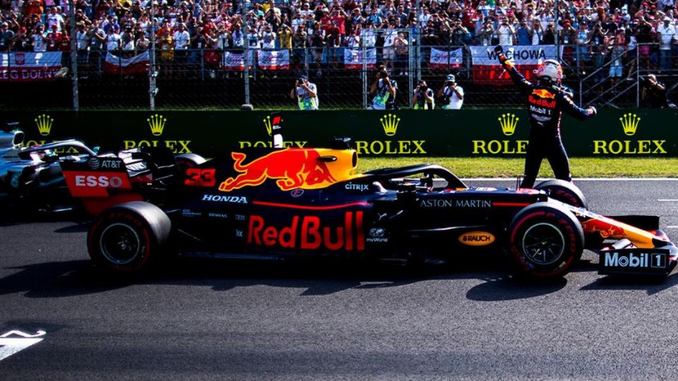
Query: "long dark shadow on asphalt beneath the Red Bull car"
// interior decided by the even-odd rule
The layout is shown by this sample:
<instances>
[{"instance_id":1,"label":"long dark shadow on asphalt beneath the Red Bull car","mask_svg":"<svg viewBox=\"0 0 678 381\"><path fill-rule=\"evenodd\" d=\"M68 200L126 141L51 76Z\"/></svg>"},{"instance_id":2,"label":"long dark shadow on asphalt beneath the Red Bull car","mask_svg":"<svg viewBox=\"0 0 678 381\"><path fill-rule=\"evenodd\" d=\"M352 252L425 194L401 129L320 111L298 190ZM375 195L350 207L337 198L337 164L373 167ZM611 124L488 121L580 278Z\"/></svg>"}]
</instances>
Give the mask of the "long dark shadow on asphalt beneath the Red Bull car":
<instances>
[{"instance_id":1,"label":"long dark shadow on asphalt beneath the Red Bull car","mask_svg":"<svg viewBox=\"0 0 678 381\"><path fill-rule=\"evenodd\" d=\"M302 289L299 296L324 296L350 289L370 290L434 280L480 279L467 297L475 301L507 301L551 294L566 285L514 279L501 264L488 268L487 260L441 263L417 267L367 261L262 262L242 260L187 260L162 262L153 270L129 277L110 275L89 260L45 262L0 279L0 295L25 293L28 298L61 298L123 289L134 284L211 286L213 291L271 286Z\"/></svg>"}]
</instances>

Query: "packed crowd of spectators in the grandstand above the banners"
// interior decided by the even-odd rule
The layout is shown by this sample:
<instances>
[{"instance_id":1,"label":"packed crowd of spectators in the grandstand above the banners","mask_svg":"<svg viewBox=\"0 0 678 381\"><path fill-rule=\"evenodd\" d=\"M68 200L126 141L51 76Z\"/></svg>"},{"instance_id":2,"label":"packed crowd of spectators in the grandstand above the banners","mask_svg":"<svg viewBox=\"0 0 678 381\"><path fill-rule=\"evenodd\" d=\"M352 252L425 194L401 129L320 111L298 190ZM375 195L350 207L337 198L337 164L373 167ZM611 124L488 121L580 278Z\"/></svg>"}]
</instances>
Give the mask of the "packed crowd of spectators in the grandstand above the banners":
<instances>
[{"instance_id":1,"label":"packed crowd of spectators in the grandstand above the banners","mask_svg":"<svg viewBox=\"0 0 678 381\"><path fill-rule=\"evenodd\" d=\"M155 24L161 59L193 49L237 51L248 44L310 48L318 62L321 57L326 62L326 51L333 51L327 48L379 47L381 60L418 37L424 46L442 47L558 42L568 46L569 56L590 61L634 51L660 69L672 68L678 56L674 0L558 4L555 23L552 0L422 0L419 9L412 0L76 0L75 37L83 56L103 51L132 56L149 48ZM2 51L70 49L69 1L2 0L1 8Z\"/></svg>"}]
</instances>

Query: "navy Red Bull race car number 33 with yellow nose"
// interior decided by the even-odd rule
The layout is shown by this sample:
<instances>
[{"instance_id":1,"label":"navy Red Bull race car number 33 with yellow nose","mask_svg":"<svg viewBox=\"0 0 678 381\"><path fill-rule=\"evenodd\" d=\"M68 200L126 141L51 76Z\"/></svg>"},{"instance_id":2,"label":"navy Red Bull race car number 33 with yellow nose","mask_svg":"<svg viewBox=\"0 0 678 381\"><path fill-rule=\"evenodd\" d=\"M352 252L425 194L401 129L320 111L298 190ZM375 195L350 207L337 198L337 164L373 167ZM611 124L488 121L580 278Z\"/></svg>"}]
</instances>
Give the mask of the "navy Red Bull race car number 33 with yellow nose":
<instances>
[{"instance_id":1,"label":"navy Red Bull race car number 33 with yellow nose","mask_svg":"<svg viewBox=\"0 0 678 381\"><path fill-rule=\"evenodd\" d=\"M69 182L73 195L113 205L96 217L87 244L95 263L114 272L142 270L172 253L409 261L503 250L518 272L540 278L566 274L584 248L600 253L602 274L665 276L677 263L658 217L595 214L571 183L468 187L434 164L362 174L356 166L347 139L328 149L230 152L186 169L172 205L162 207L113 205L139 198L122 162L72 163L64 174L84 176ZM119 199L108 198L114 192Z\"/></svg>"}]
</instances>

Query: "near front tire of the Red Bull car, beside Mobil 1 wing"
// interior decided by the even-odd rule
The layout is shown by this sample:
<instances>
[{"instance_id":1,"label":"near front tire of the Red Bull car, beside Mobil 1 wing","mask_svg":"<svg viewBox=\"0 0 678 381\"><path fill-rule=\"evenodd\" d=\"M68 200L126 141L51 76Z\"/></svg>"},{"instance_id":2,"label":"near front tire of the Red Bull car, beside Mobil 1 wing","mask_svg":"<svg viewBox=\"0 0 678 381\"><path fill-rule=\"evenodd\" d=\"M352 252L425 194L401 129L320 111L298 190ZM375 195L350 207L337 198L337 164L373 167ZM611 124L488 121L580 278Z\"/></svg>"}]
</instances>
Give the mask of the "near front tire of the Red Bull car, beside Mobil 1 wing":
<instances>
[{"instance_id":1,"label":"near front tire of the Red Bull car, beside Mobil 1 wing","mask_svg":"<svg viewBox=\"0 0 678 381\"><path fill-rule=\"evenodd\" d=\"M562 277L581 259L581 224L561 205L537 202L525 207L513 217L508 234L506 249L521 276Z\"/></svg>"}]
</instances>

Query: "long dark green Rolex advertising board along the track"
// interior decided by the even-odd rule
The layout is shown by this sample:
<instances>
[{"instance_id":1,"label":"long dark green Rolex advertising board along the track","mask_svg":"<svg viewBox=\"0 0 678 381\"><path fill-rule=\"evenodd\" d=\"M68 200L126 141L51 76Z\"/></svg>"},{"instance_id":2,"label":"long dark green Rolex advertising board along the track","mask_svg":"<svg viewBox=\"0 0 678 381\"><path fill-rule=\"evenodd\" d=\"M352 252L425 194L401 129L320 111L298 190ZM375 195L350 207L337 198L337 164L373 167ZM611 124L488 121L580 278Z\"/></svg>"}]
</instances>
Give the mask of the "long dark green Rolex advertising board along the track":
<instances>
[{"instance_id":1,"label":"long dark green Rolex advertising board along the track","mask_svg":"<svg viewBox=\"0 0 678 381\"><path fill-rule=\"evenodd\" d=\"M285 147L322 147L348 137L363 157L523 157L530 135L523 109L281 115ZM678 157L677 116L669 109L604 109L588 121L564 116L561 134L571 157ZM28 145L75 138L102 150L162 146L206 157L271 146L270 111L4 111L0 121L18 121Z\"/></svg>"}]
</instances>

